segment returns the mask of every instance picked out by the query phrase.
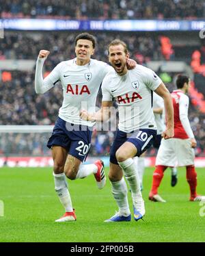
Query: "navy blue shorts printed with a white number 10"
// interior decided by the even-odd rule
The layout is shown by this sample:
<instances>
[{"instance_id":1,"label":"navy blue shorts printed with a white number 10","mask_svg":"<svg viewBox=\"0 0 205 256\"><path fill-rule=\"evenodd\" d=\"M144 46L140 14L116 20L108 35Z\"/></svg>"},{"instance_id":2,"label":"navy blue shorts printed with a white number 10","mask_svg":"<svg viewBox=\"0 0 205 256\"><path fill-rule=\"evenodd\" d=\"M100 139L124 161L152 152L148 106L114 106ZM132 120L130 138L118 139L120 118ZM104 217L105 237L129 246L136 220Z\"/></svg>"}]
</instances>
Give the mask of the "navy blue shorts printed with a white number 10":
<instances>
[{"instance_id":1,"label":"navy blue shorts printed with a white number 10","mask_svg":"<svg viewBox=\"0 0 205 256\"><path fill-rule=\"evenodd\" d=\"M153 129L139 129L133 131L133 133L126 133L124 131L118 131L115 134L114 142L110 150L110 162L112 164L118 164L118 160L115 157L116 151L124 144L124 142L131 142L137 149L135 156L141 155L150 146L152 146L153 138L156 136L156 130Z\"/></svg>"}]
</instances>

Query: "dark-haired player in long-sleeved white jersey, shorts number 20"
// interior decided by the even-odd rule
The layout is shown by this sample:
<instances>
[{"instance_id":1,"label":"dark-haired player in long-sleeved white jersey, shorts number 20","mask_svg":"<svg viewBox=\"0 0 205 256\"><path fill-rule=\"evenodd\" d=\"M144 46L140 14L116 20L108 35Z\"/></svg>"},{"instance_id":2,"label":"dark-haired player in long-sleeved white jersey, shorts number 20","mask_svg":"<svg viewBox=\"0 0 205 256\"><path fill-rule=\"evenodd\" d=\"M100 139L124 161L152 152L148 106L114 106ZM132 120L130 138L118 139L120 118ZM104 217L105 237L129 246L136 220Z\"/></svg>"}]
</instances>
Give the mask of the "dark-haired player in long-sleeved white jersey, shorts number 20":
<instances>
[{"instance_id":1,"label":"dark-haired player in long-sleeved white jersey, shorts number 20","mask_svg":"<svg viewBox=\"0 0 205 256\"><path fill-rule=\"evenodd\" d=\"M47 144L52 149L55 191L66 212L56 222L76 220L66 177L79 179L94 173L98 188L105 186L106 177L102 161L81 165L90 149L94 123L82 120L79 112L81 107L94 110L102 79L113 69L105 62L91 59L95 44L94 36L88 33L79 34L75 38L76 58L60 62L44 79L42 66L49 51L41 50L36 62L36 93L44 93L53 88L57 81L61 81L64 94L59 116ZM131 62L131 67L135 64Z\"/></svg>"}]
</instances>

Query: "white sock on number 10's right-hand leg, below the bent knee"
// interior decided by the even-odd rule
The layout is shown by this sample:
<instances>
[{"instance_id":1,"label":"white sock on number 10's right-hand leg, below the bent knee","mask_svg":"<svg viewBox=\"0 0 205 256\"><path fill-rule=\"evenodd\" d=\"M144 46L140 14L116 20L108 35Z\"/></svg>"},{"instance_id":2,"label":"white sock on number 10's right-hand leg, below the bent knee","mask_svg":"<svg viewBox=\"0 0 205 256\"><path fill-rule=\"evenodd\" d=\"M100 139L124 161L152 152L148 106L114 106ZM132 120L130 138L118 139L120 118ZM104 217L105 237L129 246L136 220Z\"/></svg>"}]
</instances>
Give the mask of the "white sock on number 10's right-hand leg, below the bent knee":
<instances>
[{"instance_id":1,"label":"white sock on number 10's right-hand leg, below the bent knee","mask_svg":"<svg viewBox=\"0 0 205 256\"><path fill-rule=\"evenodd\" d=\"M132 158L128 158L124 162L118 162L118 164L122 168L124 177L126 177L131 188L133 205L135 205L136 201L142 199L137 166Z\"/></svg>"}]
</instances>

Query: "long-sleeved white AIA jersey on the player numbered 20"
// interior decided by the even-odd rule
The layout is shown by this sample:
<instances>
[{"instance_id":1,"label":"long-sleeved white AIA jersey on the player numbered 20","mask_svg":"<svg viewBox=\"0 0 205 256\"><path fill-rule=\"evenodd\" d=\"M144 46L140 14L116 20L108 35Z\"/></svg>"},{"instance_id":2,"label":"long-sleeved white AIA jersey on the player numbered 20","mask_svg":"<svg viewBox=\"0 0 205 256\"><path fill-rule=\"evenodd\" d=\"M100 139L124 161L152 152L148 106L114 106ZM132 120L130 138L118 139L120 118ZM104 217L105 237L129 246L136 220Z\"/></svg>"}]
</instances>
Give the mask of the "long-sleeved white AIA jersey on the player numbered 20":
<instances>
[{"instance_id":1,"label":"long-sleeved white AIA jersey on the player numbered 20","mask_svg":"<svg viewBox=\"0 0 205 256\"><path fill-rule=\"evenodd\" d=\"M60 62L53 71L42 81L42 66L44 59L36 63L36 84L40 93L44 93L61 81L64 101L59 109L59 117L76 125L93 126L94 123L82 120L79 116L82 109L95 112L96 97L102 79L113 70L105 62L91 59L88 64L79 66L76 58ZM42 88L42 89L40 89Z\"/></svg>"}]
</instances>

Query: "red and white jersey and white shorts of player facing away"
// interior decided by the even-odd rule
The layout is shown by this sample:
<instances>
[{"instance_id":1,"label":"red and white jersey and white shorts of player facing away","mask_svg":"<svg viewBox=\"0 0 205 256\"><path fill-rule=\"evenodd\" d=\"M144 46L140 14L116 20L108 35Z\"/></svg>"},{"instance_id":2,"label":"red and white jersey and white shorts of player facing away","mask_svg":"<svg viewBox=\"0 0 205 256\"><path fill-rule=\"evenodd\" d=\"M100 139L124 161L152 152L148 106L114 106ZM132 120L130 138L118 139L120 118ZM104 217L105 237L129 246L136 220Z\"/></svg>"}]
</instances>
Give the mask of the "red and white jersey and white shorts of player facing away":
<instances>
[{"instance_id":1,"label":"red and white jersey and white shorts of player facing away","mask_svg":"<svg viewBox=\"0 0 205 256\"><path fill-rule=\"evenodd\" d=\"M172 92L174 106L174 138L162 140L156 156L156 166L189 166L194 164L191 148L193 131L188 118L189 97L182 90Z\"/></svg>"}]
</instances>

